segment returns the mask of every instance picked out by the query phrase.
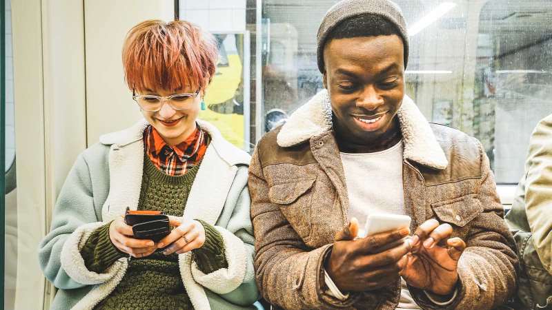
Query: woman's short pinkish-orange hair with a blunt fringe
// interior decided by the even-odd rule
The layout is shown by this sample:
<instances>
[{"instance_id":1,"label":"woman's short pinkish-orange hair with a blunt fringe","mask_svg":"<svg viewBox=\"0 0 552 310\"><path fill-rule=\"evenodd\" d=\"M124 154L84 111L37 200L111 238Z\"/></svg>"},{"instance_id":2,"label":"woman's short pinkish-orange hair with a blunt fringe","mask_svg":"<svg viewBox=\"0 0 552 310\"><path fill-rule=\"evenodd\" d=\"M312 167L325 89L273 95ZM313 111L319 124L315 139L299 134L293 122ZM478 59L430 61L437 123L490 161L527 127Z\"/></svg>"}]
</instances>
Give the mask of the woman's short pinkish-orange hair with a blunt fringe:
<instances>
[{"instance_id":1,"label":"woman's short pinkish-orange hair with a blunt fringe","mask_svg":"<svg viewBox=\"0 0 552 310\"><path fill-rule=\"evenodd\" d=\"M123 46L125 81L131 90L205 90L217 59L213 35L188 21L143 21L128 32Z\"/></svg>"}]
</instances>

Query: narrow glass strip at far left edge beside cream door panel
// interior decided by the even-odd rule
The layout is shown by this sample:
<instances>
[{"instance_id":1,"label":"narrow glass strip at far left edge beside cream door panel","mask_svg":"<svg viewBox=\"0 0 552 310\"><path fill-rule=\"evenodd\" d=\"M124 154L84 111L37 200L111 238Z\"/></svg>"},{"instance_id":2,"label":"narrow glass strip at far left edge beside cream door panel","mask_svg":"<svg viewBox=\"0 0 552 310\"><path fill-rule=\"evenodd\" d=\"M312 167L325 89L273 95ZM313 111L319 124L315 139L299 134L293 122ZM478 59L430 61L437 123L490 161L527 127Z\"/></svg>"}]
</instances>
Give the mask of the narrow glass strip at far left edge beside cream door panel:
<instances>
[{"instance_id":1,"label":"narrow glass strip at far left edge beside cream door panel","mask_svg":"<svg viewBox=\"0 0 552 310\"><path fill-rule=\"evenodd\" d=\"M1 87L6 90L6 118L5 127L6 145L3 149L6 155L5 168L5 206L6 206L6 234L4 240L4 309L14 309L15 285L17 279L17 190L15 185L15 132L14 132L14 96L13 96L13 53L12 53L12 19L11 1L6 0L5 17L6 32L3 41L6 43L6 54L2 55L6 61L6 81Z\"/></svg>"}]
</instances>

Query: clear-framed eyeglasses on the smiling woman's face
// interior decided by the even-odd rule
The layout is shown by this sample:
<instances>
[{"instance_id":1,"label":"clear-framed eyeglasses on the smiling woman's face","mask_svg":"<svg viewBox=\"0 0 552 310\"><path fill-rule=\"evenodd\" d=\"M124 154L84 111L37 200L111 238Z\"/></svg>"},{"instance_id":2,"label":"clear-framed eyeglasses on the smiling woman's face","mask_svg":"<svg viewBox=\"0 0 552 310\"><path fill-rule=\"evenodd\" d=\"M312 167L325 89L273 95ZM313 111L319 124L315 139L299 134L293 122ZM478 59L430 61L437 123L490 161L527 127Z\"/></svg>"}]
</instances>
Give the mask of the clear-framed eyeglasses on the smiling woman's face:
<instances>
[{"instance_id":1,"label":"clear-framed eyeglasses on the smiling woman's face","mask_svg":"<svg viewBox=\"0 0 552 310\"><path fill-rule=\"evenodd\" d=\"M137 95L132 92L132 99L138 103L140 108L147 112L158 112L166 101L173 110L189 110L194 105L194 99L199 90L194 93L172 94L170 96Z\"/></svg>"}]
</instances>

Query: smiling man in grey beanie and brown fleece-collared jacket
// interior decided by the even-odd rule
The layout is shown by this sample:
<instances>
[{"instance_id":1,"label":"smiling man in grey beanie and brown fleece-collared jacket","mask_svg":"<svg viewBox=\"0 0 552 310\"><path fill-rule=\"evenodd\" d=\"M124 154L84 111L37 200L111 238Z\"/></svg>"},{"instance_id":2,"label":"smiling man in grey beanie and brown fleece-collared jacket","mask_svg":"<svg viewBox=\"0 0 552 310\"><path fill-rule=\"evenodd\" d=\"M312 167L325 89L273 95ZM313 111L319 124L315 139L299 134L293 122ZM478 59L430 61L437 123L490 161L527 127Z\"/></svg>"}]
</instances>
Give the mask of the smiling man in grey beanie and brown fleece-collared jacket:
<instances>
[{"instance_id":1,"label":"smiling man in grey beanie and brown fleece-collared jacket","mask_svg":"<svg viewBox=\"0 0 552 310\"><path fill-rule=\"evenodd\" d=\"M284 309L504 303L517 260L489 159L475 138L430 125L404 95L400 9L337 3L319 27L317 61L326 90L266 134L250 165L264 298ZM375 213L411 216L413 236L357 238Z\"/></svg>"}]
</instances>

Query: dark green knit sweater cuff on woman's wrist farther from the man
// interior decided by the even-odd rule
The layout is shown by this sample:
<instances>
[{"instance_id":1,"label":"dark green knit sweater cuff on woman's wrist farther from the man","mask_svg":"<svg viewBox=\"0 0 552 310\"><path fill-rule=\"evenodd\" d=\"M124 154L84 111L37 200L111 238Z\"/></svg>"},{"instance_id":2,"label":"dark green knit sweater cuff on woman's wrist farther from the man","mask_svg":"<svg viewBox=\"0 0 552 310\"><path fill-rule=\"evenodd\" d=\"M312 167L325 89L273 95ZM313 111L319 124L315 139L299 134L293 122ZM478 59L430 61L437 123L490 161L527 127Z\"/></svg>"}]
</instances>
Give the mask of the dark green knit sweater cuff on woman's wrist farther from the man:
<instances>
[{"instance_id":1,"label":"dark green knit sweater cuff on woman's wrist farther from the man","mask_svg":"<svg viewBox=\"0 0 552 310\"><path fill-rule=\"evenodd\" d=\"M90 271L102 273L116 260L127 256L112 244L109 238L110 224L111 222L93 231L81 249L84 265Z\"/></svg>"}]
</instances>

